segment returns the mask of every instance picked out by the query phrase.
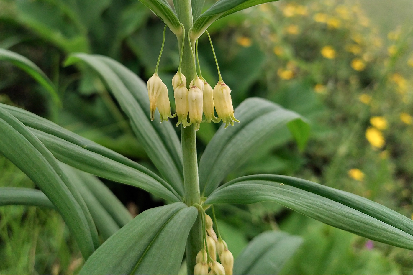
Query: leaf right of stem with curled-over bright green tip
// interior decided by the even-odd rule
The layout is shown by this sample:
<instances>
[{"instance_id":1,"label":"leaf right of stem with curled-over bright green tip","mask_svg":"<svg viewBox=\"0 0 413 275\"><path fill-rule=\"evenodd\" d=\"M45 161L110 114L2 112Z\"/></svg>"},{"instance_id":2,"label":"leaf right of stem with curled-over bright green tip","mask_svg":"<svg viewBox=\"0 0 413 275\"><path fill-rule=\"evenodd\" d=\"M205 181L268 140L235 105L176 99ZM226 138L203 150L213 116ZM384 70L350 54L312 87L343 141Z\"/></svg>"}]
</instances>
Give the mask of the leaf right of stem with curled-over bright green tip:
<instances>
[{"instance_id":1,"label":"leaf right of stem with curled-over bright green tip","mask_svg":"<svg viewBox=\"0 0 413 275\"><path fill-rule=\"evenodd\" d=\"M309 134L309 126L299 114L258 97L244 100L235 109L235 117L240 123L228 128L221 126L199 161L199 186L205 196L281 127L294 126L294 136L300 137L297 141L301 146Z\"/></svg>"}]
</instances>

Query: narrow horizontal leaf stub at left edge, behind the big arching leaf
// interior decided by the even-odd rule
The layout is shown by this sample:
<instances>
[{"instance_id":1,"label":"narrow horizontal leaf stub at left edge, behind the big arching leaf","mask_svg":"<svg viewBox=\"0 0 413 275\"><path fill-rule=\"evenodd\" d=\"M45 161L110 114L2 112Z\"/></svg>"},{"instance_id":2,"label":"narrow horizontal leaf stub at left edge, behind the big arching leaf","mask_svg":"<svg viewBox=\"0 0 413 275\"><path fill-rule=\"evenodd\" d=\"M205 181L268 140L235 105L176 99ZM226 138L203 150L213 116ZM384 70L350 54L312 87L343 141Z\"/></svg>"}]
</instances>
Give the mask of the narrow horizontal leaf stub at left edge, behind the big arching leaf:
<instances>
[{"instance_id":1,"label":"narrow horizontal leaf stub at left edge, behind the big arching leaf","mask_svg":"<svg viewBox=\"0 0 413 275\"><path fill-rule=\"evenodd\" d=\"M40 190L21 187L0 187L0 205L13 204L54 207Z\"/></svg>"}]
</instances>

